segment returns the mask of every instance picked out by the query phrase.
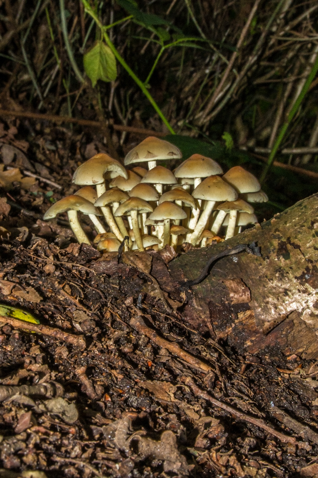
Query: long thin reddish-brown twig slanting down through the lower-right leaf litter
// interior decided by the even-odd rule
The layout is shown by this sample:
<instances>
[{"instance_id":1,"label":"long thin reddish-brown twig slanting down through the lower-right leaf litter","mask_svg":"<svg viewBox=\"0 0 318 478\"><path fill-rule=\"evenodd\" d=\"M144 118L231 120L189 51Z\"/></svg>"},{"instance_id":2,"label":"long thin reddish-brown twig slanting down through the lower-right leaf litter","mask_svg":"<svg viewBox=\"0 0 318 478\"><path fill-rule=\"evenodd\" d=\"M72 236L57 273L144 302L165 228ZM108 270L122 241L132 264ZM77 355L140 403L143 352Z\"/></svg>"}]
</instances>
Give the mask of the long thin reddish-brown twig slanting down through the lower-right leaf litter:
<instances>
[{"instance_id":1,"label":"long thin reddish-brown twig slanting down through the lower-right leaf litter","mask_svg":"<svg viewBox=\"0 0 318 478\"><path fill-rule=\"evenodd\" d=\"M270 433L273 436L276 436L282 443L296 443L296 439L293 436L287 436L283 435L280 432L276 432L274 428L266 425L263 420L259 420L258 418L251 417L249 415L246 415L245 413L239 412L238 410L235 410L235 408L232 408L230 405L227 405L226 403L220 402L219 400L216 400L213 398L211 395L206 393L205 391L201 390L190 377L182 377L181 380L187 385L188 387L191 388L193 393L200 397L203 398L204 400L207 400L211 402L214 406L220 407L223 410L225 410L228 413L231 413L235 417L237 417L239 420L244 420L245 422L251 423L255 426L258 426L259 428L262 428L265 430L265 432Z\"/></svg>"}]
</instances>

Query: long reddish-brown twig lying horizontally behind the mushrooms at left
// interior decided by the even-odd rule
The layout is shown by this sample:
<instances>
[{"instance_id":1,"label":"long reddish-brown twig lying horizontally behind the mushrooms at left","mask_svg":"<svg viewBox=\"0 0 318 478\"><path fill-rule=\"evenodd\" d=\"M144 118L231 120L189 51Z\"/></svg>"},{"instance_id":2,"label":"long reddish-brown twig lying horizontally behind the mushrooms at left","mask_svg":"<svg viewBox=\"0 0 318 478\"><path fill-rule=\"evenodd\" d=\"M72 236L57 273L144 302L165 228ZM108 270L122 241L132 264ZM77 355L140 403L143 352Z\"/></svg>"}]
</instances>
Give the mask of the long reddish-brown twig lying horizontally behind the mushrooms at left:
<instances>
[{"instance_id":1,"label":"long reddish-brown twig lying horizontally behind the mushrooms at left","mask_svg":"<svg viewBox=\"0 0 318 478\"><path fill-rule=\"evenodd\" d=\"M9 111L0 109L0 116L11 116L13 118L31 118L34 120L53 121L55 123L76 123L82 126L93 126L101 128L105 126L104 122L81 120L79 118L71 118L70 116L45 115L41 113L33 113L32 111ZM119 124L111 125L116 131L127 131L128 133L144 134L145 136L166 136L167 133L160 131L146 130L144 128L134 128L133 126L123 126Z\"/></svg>"}]
</instances>

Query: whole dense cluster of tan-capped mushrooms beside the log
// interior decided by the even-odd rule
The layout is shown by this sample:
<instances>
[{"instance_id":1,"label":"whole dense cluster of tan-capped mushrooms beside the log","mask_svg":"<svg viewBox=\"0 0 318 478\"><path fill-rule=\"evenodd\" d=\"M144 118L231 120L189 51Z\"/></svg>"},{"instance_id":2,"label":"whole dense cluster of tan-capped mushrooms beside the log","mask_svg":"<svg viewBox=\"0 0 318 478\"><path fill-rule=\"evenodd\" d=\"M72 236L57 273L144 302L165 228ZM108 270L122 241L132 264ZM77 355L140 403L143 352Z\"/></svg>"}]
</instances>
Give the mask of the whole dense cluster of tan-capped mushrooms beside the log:
<instances>
[{"instance_id":1,"label":"whole dense cluster of tan-capped mushrooms beside the log","mask_svg":"<svg viewBox=\"0 0 318 478\"><path fill-rule=\"evenodd\" d=\"M131 250L167 244L177 249L183 242L204 247L223 240L222 226L228 239L257 221L249 203L268 198L253 174L241 166L223 174L216 161L201 154L192 154L173 172L157 165L181 157L175 145L152 136L128 152L129 170L105 153L95 154L74 173L73 183L81 189L53 204L44 219L67 211L77 240L90 244L77 213L88 215L97 249L107 251L117 251L126 236L125 248ZM148 163L148 169L134 163Z\"/></svg>"}]
</instances>

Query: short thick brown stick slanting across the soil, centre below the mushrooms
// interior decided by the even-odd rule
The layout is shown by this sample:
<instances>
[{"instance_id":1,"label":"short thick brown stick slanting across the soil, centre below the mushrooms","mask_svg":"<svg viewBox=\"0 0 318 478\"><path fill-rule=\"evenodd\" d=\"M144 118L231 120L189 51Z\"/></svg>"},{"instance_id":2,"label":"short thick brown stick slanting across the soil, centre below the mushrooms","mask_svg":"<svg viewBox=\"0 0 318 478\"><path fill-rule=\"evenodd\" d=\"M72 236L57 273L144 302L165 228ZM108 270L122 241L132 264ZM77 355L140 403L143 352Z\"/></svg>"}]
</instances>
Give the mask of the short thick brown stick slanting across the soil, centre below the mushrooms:
<instances>
[{"instance_id":1,"label":"short thick brown stick slanting across the soil, centre below the mushrooms","mask_svg":"<svg viewBox=\"0 0 318 478\"><path fill-rule=\"evenodd\" d=\"M136 329L139 334L143 334L146 337L149 337L150 340L152 340L152 342L154 342L156 345L159 345L159 347L161 348L166 348L167 350L169 350L169 352L171 352L171 354L184 360L190 366L192 365L192 367L194 367L195 369L199 369L204 373L208 373L212 370L212 367L210 367L210 365L201 362L201 360L197 359L196 357L193 357L188 352L185 352L184 350L182 350L182 348L179 347L178 344L169 342L165 338L159 337L159 335L154 330L146 326L145 322L140 316L132 317L130 319L130 326Z\"/></svg>"}]
</instances>

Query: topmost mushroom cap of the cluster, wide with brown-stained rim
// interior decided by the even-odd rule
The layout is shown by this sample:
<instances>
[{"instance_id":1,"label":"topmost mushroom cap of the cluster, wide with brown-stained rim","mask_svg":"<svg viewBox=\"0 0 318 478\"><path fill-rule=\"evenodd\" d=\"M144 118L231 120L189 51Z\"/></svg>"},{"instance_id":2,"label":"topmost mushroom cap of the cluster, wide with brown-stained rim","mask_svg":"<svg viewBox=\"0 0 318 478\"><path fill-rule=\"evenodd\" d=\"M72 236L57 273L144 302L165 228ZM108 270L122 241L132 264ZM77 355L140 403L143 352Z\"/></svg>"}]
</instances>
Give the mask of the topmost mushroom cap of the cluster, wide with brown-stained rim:
<instances>
[{"instance_id":1,"label":"topmost mushroom cap of the cluster, wide with brown-stained rim","mask_svg":"<svg viewBox=\"0 0 318 478\"><path fill-rule=\"evenodd\" d=\"M177 146L155 136L148 136L127 153L124 164L127 166L131 163L180 158L182 158L182 153Z\"/></svg>"}]
</instances>

